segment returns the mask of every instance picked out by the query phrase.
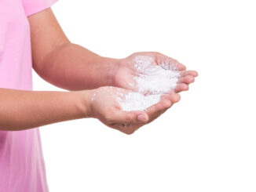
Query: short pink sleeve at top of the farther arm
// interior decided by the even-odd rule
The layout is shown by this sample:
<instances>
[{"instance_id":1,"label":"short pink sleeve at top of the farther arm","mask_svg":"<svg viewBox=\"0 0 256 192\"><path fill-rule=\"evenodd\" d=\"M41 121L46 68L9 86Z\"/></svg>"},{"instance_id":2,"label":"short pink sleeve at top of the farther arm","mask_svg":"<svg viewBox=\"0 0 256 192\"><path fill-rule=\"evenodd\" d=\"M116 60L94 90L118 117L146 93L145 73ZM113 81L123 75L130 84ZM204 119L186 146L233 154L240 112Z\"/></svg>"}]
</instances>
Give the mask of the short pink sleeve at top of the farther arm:
<instances>
[{"instance_id":1,"label":"short pink sleeve at top of the farther arm","mask_svg":"<svg viewBox=\"0 0 256 192\"><path fill-rule=\"evenodd\" d=\"M27 16L49 8L57 0L23 0L24 10Z\"/></svg>"}]
</instances>

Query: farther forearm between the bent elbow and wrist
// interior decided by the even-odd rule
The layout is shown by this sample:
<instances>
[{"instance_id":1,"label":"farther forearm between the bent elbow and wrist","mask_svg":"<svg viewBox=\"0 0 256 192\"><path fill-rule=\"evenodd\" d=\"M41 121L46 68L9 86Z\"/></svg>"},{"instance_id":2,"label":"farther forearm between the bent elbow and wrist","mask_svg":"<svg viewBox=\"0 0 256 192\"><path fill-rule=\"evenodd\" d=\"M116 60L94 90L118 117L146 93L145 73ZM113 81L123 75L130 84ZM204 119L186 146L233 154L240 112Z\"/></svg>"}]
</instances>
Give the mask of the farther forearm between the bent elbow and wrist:
<instances>
[{"instance_id":1,"label":"farther forearm between the bent elbow and wrist","mask_svg":"<svg viewBox=\"0 0 256 192\"><path fill-rule=\"evenodd\" d=\"M68 90L95 89L113 85L118 60L98 56L69 42L48 53L35 71L47 82Z\"/></svg>"}]
</instances>

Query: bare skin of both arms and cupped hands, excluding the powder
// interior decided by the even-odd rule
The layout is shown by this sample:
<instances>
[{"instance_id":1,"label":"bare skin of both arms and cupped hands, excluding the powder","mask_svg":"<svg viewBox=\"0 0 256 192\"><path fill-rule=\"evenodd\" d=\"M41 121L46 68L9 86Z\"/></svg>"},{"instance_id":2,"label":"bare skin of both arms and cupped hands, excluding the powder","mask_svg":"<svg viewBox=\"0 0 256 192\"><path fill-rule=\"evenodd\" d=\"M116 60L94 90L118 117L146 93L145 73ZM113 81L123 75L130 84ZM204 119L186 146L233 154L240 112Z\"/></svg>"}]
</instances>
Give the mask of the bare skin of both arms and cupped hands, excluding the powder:
<instances>
[{"instance_id":1,"label":"bare skin of both arms and cupped hands, excluding the powder","mask_svg":"<svg viewBox=\"0 0 256 192\"><path fill-rule=\"evenodd\" d=\"M97 118L104 125L131 134L158 118L180 100L177 92L188 90L196 71L161 53L133 53L123 59L99 56L69 42L51 9L28 17L31 26L33 68L47 82L70 92L33 92L0 89L0 129L24 130L59 121ZM174 92L141 111L123 111L112 96L137 91L130 86L136 77L135 56L150 56L153 64L168 61L181 71ZM33 118L31 118L33 117Z\"/></svg>"}]
</instances>

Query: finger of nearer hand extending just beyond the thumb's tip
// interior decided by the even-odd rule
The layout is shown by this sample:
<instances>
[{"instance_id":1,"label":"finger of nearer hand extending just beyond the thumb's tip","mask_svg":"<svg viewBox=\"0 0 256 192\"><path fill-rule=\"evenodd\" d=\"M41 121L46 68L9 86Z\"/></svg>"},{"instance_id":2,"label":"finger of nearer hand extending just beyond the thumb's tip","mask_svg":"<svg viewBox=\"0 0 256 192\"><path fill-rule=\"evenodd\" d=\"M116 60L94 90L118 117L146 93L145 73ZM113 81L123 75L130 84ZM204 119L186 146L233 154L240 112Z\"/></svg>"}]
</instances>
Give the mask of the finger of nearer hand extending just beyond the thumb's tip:
<instances>
[{"instance_id":1,"label":"finger of nearer hand extending just beyond the thumb's tip","mask_svg":"<svg viewBox=\"0 0 256 192\"><path fill-rule=\"evenodd\" d=\"M148 114L148 118L149 120L151 118L155 117L155 114L158 114L159 111L161 110L165 110L169 107L172 106L172 102L170 100L160 100L159 103L156 103L155 105L153 105L152 107L148 107L145 111Z\"/></svg>"}]
</instances>

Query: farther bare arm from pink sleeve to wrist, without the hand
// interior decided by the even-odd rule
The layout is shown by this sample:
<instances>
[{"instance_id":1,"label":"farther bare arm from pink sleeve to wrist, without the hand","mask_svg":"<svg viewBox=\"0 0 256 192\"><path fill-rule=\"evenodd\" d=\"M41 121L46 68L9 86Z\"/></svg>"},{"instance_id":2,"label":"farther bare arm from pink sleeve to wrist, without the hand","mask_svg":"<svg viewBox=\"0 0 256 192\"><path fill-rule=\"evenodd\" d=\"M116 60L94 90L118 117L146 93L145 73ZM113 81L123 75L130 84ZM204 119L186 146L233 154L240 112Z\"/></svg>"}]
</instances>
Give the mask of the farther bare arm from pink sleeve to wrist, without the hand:
<instances>
[{"instance_id":1,"label":"farther bare arm from pink sleeve to wrist, without the hand","mask_svg":"<svg viewBox=\"0 0 256 192\"><path fill-rule=\"evenodd\" d=\"M68 90L113 85L117 60L68 41L51 9L29 16L33 67L47 82Z\"/></svg>"}]
</instances>

